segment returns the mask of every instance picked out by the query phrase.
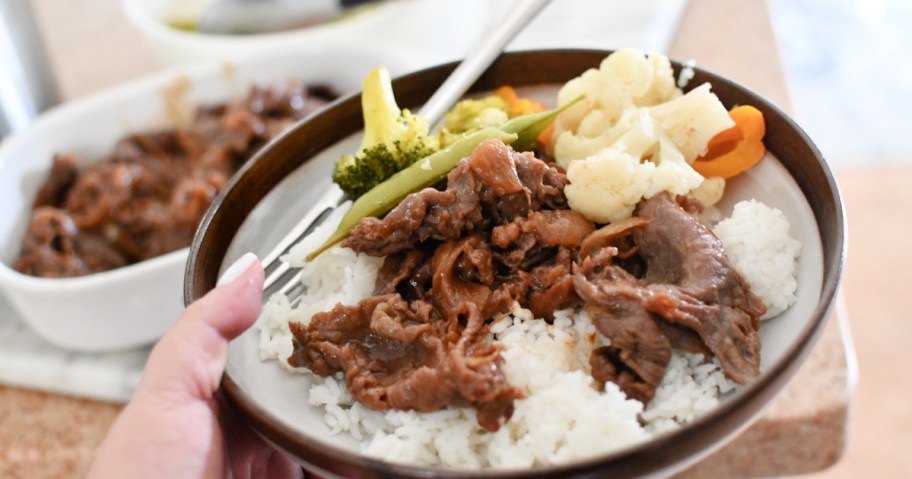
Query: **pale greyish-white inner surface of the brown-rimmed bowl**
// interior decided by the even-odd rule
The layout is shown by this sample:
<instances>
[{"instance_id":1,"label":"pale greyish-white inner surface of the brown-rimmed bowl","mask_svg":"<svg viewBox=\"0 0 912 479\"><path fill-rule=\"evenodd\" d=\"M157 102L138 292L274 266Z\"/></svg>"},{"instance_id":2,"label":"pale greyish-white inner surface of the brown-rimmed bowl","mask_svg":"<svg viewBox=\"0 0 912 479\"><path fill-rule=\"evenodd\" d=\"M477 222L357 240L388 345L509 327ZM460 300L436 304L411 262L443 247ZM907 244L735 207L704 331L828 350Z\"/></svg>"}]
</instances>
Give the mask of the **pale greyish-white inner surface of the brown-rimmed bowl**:
<instances>
[{"instance_id":1,"label":"pale greyish-white inner surface of the brown-rimmed bowl","mask_svg":"<svg viewBox=\"0 0 912 479\"><path fill-rule=\"evenodd\" d=\"M526 90L522 94L540 101L550 98L548 103L553 103L555 93L556 87ZM231 264L231 258L247 251L265 254L268 246L282 237L284 230L281 225L295 224L309 205L314 204L329 188L332 165L341 154L356 150L359 141L358 135L341 140L313 157L273 189L241 226L226 255L229 260L223 264ZM807 200L788 171L770 154L729 183L718 207L724 216L729 216L735 203L750 198L785 213L791 223L791 236L802 244L797 303L779 317L761 324L761 371L766 371L798 341L818 307L823 285L823 256L816 221ZM276 424L289 431L358 453L357 442L346 433L333 435L324 423L324 409L308 403L311 377L289 373L275 361L264 362L258 358L259 332L255 328L231 342L227 371L231 379L249 395L251 403L268 411Z\"/></svg>"}]
</instances>

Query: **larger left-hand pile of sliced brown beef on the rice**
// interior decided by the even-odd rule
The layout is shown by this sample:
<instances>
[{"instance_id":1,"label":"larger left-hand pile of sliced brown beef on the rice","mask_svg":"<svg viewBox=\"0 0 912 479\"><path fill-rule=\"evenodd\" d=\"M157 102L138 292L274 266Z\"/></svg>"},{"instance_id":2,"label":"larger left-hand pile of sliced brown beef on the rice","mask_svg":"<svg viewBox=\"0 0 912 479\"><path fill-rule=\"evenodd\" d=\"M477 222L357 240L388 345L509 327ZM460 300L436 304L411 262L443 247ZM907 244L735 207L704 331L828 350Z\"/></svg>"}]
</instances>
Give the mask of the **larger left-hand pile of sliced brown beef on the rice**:
<instances>
[{"instance_id":1,"label":"larger left-hand pile of sliced brown beef on the rice","mask_svg":"<svg viewBox=\"0 0 912 479\"><path fill-rule=\"evenodd\" d=\"M386 255L376 296L316 315L307 328L292 324L290 363L344 371L371 407L470 405L496 430L521 394L500 370L486 322L516 301L545 318L579 301L570 272L594 225L565 209L566 184L556 167L486 142L450 172L446 190L425 189L383 219L362 220L344 245Z\"/></svg>"}]
</instances>

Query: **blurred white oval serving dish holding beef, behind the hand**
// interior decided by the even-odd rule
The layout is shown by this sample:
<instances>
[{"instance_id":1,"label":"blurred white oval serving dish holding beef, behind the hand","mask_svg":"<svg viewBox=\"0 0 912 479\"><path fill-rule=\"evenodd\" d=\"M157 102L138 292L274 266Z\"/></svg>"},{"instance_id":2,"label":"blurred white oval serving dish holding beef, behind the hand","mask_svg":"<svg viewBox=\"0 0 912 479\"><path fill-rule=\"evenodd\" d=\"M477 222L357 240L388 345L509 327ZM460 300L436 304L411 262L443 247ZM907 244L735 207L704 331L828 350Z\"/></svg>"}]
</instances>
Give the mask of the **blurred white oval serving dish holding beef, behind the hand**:
<instances>
[{"instance_id":1,"label":"blurred white oval serving dish holding beef, behind the hand","mask_svg":"<svg viewBox=\"0 0 912 479\"><path fill-rule=\"evenodd\" d=\"M52 109L0 145L0 289L29 326L58 346L105 351L155 341L183 309L187 249L76 278L36 278L11 268L54 153L95 159L127 133L167 126L163 90L178 79L190 80L189 104L238 99L252 84L290 78L345 93L359 90L367 71L380 63L402 70L401 60L361 47L272 52L230 67L209 62L175 68Z\"/></svg>"}]
</instances>

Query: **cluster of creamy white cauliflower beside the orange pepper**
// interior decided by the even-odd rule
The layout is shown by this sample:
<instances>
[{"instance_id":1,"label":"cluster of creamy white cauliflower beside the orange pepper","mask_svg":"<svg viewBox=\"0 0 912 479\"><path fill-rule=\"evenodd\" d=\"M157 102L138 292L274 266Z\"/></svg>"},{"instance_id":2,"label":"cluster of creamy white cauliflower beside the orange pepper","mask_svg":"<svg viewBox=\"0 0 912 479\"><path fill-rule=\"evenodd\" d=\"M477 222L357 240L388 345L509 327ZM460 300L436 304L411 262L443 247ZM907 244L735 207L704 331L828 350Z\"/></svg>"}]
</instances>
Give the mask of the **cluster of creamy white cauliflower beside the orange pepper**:
<instances>
[{"instance_id":1,"label":"cluster of creamy white cauliflower beside the orange pepper","mask_svg":"<svg viewBox=\"0 0 912 479\"><path fill-rule=\"evenodd\" d=\"M615 53L568 82L558 103L580 93L587 95L582 106L556 121L554 153L570 179L570 207L596 223L629 217L640 200L659 192L697 189L703 177L690 164L733 124L708 84L682 95L661 55Z\"/></svg>"}]
</instances>

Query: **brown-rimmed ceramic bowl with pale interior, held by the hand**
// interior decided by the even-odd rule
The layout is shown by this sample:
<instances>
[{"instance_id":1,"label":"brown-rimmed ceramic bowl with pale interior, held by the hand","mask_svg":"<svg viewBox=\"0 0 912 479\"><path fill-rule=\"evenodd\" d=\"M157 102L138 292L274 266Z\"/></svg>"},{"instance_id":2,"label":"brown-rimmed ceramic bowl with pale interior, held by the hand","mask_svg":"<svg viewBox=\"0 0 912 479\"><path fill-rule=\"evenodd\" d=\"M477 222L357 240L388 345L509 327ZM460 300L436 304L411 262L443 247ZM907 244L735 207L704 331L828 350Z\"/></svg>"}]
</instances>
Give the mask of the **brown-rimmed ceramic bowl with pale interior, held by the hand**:
<instances>
[{"instance_id":1,"label":"brown-rimmed ceramic bowl with pale interior, held by the hand","mask_svg":"<svg viewBox=\"0 0 912 479\"><path fill-rule=\"evenodd\" d=\"M551 97L558 86L596 67L605 51L530 51L503 55L472 92L511 84ZM680 65L675 65L676 72ZM403 106L425 101L453 69L443 65L395 81ZM798 302L761 326L762 373L718 407L672 432L586 460L530 470L456 471L393 464L360 454L353 441L332 436L322 410L306 399L308 379L261 362L258 334L233 341L222 385L241 414L269 441L318 474L346 477L641 477L671 475L705 457L750 424L798 370L822 330L840 280L845 224L839 193L820 152L781 110L762 97L710 72L696 69L690 86L710 82L726 106L758 107L767 122L770 155L733 180L721 205L755 197L779 208L790 234L803 244ZM207 213L190 251L185 301L213 288L225 265L244 252L263 255L286 228L329 186L328 172L341 153L357 148L362 128L359 99L352 96L305 121L262 151L235 176Z\"/></svg>"}]
</instances>

